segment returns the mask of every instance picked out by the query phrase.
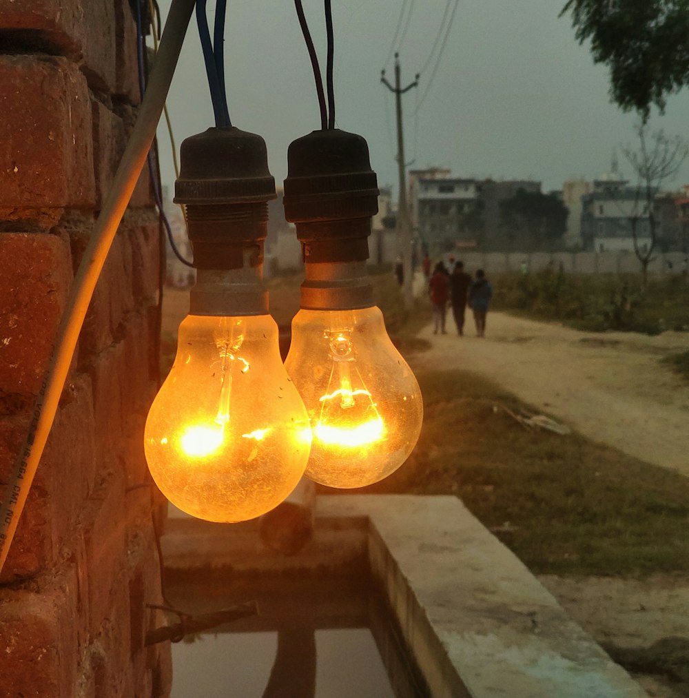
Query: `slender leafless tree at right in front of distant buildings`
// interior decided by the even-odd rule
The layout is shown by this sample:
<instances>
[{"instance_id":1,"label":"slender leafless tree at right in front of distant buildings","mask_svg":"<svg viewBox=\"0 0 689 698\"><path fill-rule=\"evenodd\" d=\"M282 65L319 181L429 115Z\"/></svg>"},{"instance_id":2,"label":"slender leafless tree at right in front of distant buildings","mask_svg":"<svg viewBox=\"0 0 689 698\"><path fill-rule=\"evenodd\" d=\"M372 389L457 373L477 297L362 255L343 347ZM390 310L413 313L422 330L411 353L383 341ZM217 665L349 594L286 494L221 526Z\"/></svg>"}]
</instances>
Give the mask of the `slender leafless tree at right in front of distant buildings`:
<instances>
[{"instance_id":1,"label":"slender leafless tree at right in front of distant buildings","mask_svg":"<svg viewBox=\"0 0 689 698\"><path fill-rule=\"evenodd\" d=\"M649 262L653 260L653 250L658 244L658 218L655 215L655 195L663 183L671 180L681 168L689 154L689 146L679 135L670 138L662 128L649 133L649 126L644 122L637 124L634 131L639 139L639 149L630 145L622 148L625 157L632 165L637 177L635 200L630 211L629 221L632 228L634 252L641 262L642 283L646 288ZM639 218L648 216L648 242L639 242Z\"/></svg>"}]
</instances>

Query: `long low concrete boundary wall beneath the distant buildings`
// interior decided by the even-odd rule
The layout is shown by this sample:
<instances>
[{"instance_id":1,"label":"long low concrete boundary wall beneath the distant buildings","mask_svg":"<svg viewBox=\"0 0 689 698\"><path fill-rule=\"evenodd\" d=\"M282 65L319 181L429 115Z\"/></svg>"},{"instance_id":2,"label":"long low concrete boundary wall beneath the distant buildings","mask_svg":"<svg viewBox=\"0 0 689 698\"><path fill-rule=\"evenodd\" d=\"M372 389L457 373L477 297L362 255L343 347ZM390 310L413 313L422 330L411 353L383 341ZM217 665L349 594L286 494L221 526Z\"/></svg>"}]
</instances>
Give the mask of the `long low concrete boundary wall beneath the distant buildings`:
<instances>
[{"instance_id":1,"label":"long low concrete boundary wall beneath the distant buildings","mask_svg":"<svg viewBox=\"0 0 689 698\"><path fill-rule=\"evenodd\" d=\"M526 263L530 272L540 272L552 267L576 274L640 274L641 264L633 252L468 252L455 253L457 260L464 262L468 272L484 269L492 274L519 272ZM653 254L649 264L651 274L679 274L686 269L686 255L681 252Z\"/></svg>"}]
</instances>

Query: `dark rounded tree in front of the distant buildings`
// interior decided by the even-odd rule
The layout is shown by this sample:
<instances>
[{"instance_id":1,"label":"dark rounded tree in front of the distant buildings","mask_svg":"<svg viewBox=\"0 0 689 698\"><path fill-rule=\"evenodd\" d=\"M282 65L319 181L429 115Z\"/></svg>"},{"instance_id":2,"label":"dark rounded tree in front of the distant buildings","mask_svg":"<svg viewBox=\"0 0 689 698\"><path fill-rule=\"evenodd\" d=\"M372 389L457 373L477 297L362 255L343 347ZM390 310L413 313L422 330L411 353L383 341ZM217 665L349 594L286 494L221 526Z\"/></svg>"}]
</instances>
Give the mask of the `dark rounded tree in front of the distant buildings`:
<instances>
[{"instance_id":1,"label":"dark rounded tree in front of the distant buildings","mask_svg":"<svg viewBox=\"0 0 689 698\"><path fill-rule=\"evenodd\" d=\"M533 249L551 247L567 230L568 208L551 194L517 189L500 202L500 225L510 245L519 239Z\"/></svg>"}]
</instances>

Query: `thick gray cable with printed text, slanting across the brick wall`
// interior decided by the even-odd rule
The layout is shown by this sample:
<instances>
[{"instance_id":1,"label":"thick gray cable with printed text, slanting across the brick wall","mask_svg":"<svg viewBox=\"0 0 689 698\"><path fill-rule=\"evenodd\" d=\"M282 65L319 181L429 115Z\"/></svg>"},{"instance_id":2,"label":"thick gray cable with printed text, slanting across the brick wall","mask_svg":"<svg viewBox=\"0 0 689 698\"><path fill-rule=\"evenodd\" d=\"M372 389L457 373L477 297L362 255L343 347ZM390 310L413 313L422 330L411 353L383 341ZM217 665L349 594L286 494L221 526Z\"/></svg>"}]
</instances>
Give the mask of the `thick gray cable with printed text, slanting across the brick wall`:
<instances>
[{"instance_id":1,"label":"thick gray cable with printed text, slanting across the brick wall","mask_svg":"<svg viewBox=\"0 0 689 698\"><path fill-rule=\"evenodd\" d=\"M161 37L160 50L151 70L131 138L75 276L43 387L36 398L29 433L19 451L15 469L10 475L0 504L0 571L7 559L17 523L57 413L59 399L98 276L156 135L194 4L195 0L172 0L168 21Z\"/></svg>"}]
</instances>

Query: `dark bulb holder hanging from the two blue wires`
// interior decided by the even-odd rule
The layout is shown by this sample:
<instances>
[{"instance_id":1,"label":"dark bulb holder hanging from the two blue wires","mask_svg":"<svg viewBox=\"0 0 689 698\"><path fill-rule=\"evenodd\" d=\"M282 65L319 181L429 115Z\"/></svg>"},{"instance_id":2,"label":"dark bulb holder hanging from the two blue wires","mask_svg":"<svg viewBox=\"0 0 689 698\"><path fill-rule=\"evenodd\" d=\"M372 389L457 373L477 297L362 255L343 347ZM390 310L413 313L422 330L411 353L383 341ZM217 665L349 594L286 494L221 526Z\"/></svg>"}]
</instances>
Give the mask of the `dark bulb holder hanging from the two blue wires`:
<instances>
[{"instance_id":1,"label":"dark bulb holder hanging from the two blue wires","mask_svg":"<svg viewBox=\"0 0 689 698\"><path fill-rule=\"evenodd\" d=\"M276 198L265 141L235 126L208 128L182 142L179 160L174 201L186 205L194 267L262 265L267 202Z\"/></svg>"}]
</instances>

